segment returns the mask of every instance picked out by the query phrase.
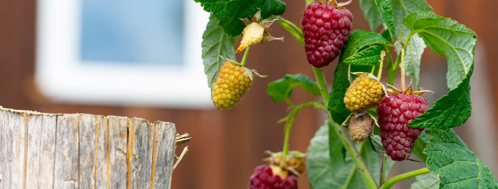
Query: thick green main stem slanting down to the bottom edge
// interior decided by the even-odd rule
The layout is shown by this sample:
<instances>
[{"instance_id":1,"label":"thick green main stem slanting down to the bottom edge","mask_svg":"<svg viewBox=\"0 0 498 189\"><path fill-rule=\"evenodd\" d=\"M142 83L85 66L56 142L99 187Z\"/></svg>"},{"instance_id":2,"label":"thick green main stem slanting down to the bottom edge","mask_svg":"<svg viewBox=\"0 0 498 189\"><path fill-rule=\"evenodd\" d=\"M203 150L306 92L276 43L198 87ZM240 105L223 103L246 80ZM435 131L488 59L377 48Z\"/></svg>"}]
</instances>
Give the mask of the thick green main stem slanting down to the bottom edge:
<instances>
[{"instance_id":1,"label":"thick green main stem slanting down to the bottom edge","mask_svg":"<svg viewBox=\"0 0 498 189\"><path fill-rule=\"evenodd\" d=\"M329 101L329 90L327 89L327 85L325 83L325 77L323 76L323 72L319 68L313 67L313 72L315 73L316 80L318 82L318 87L320 88L320 93L322 94L323 101L325 105L328 104ZM373 180L372 174L369 172L367 165L365 165L365 162L363 161L362 156L360 153L355 148L355 145L353 142L349 139L348 134L346 133L346 130L344 129L343 126L339 125L335 121L332 120L332 114L330 111L327 111L329 114L330 118L330 127L329 128L330 132L332 129L334 129L339 136L339 139L341 140L342 144L348 151L348 153L351 155L351 158L353 159L353 162L355 163L356 167L358 168L358 171L360 171L360 175L362 176L365 185L367 186L368 189L376 189L377 185L375 184L375 181Z\"/></svg>"}]
</instances>

